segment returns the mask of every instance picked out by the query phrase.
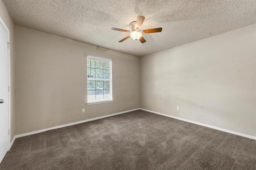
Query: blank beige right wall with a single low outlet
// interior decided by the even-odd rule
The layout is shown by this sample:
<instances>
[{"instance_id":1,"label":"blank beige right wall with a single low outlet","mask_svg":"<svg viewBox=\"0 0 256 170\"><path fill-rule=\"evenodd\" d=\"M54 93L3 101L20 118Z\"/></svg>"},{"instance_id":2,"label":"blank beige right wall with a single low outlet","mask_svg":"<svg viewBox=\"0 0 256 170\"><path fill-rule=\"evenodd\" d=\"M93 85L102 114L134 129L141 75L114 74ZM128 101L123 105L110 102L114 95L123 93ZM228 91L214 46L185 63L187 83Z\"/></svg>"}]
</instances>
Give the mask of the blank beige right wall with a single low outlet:
<instances>
[{"instance_id":1,"label":"blank beige right wall with a single low outlet","mask_svg":"<svg viewBox=\"0 0 256 170\"><path fill-rule=\"evenodd\" d=\"M256 136L255 30L142 57L141 108Z\"/></svg>"}]
</instances>

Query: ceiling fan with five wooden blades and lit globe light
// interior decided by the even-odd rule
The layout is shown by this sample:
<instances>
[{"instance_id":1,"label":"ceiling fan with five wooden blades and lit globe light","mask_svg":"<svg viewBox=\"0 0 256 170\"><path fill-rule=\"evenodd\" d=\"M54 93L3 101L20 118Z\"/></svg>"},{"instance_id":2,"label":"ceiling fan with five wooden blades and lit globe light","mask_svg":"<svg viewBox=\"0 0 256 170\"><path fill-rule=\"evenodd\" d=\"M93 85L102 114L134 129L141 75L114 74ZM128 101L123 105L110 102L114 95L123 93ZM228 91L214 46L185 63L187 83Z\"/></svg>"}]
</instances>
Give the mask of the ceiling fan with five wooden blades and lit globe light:
<instances>
[{"instance_id":1,"label":"ceiling fan with five wooden blades and lit globe light","mask_svg":"<svg viewBox=\"0 0 256 170\"><path fill-rule=\"evenodd\" d=\"M123 42L124 40L126 40L130 37L135 41L139 40L141 43L145 43L146 40L142 37L142 34L161 32L162 28L160 27L160 28L152 28L152 29L141 30L140 27L141 27L144 20L145 20L144 16L138 16L136 21L132 21L130 23L131 31L126 30L126 29L114 28L114 27L112 27L111 29L115 30L115 31L122 31L122 32L130 33L129 36L127 36L124 39L121 39L120 41L118 41L119 43Z\"/></svg>"}]
</instances>

